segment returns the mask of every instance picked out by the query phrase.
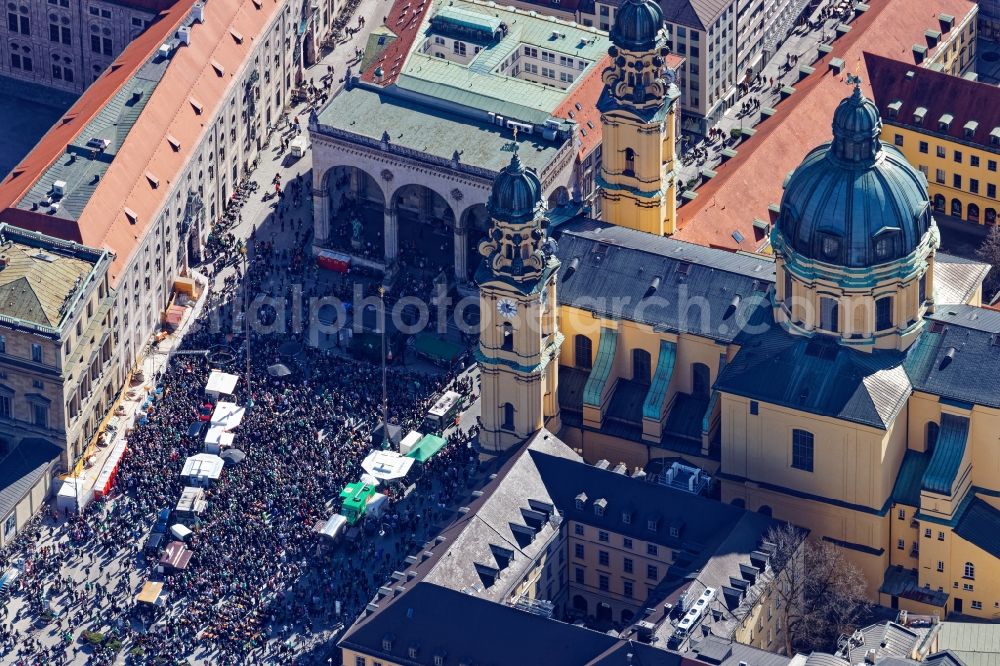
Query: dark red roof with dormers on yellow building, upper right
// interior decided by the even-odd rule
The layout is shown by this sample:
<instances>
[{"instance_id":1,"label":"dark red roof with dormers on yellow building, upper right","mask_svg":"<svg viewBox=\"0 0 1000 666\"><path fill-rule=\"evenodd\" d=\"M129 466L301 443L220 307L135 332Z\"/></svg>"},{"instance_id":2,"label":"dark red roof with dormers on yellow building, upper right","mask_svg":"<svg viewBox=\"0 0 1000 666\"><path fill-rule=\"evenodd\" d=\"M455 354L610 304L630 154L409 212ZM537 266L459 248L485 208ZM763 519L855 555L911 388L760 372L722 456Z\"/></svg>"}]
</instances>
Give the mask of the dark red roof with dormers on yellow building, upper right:
<instances>
[{"instance_id":1,"label":"dark red roof with dormers on yellow building, upper right","mask_svg":"<svg viewBox=\"0 0 1000 666\"><path fill-rule=\"evenodd\" d=\"M1000 127L1000 88L997 86L914 67L872 53L865 54L865 65L874 95L872 99L882 112L883 122L913 126L914 112L924 107L927 113L922 127L926 131L991 146L990 132ZM891 117L889 109L895 102L902 102L897 119ZM952 122L947 130L942 130L938 121L945 114L952 116ZM972 136L967 136L965 124L970 120L978 125Z\"/></svg>"}]
</instances>

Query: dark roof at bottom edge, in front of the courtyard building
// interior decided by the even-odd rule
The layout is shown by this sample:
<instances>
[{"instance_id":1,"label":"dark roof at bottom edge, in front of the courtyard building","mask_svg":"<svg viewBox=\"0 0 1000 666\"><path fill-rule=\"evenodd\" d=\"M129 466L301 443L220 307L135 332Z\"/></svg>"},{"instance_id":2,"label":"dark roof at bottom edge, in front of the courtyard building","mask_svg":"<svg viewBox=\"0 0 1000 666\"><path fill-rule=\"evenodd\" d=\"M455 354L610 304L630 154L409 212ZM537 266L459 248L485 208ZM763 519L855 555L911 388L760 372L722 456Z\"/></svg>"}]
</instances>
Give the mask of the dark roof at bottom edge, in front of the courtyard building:
<instances>
[{"instance_id":1,"label":"dark roof at bottom edge, in front of the courtyard building","mask_svg":"<svg viewBox=\"0 0 1000 666\"><path fill-rule=\"evenodd\" d=\"M387 635L392 637L388 651L383 646ZM445 654L445 663L587 664L616 642L606 634L421 582L355 624L340 646L421 666L432 666L435 655ZM419 646L416 658L409 656L411 646Z\"/></svg>"}]
</instances>

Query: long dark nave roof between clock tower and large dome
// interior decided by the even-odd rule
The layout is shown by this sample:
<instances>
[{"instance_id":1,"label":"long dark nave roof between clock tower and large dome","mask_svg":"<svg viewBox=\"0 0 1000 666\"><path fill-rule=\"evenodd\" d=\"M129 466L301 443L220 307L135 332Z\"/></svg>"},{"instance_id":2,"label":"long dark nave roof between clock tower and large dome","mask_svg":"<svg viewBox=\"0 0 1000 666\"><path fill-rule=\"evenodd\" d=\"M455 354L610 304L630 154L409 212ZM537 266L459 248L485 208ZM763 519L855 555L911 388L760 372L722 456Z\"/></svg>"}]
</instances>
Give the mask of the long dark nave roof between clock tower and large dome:
<instances>
[{"instance_id":1,"label":"long dark nave roof between clock tower and large dome","mask_svg":"<svg viewBox=\"0 0 1000 666\"><path fill-rule=\"evenodd\" d=\"M727 343L772 325L770 259L590 220L560 231L560 303Z\"/></svg>"}]
</instances>

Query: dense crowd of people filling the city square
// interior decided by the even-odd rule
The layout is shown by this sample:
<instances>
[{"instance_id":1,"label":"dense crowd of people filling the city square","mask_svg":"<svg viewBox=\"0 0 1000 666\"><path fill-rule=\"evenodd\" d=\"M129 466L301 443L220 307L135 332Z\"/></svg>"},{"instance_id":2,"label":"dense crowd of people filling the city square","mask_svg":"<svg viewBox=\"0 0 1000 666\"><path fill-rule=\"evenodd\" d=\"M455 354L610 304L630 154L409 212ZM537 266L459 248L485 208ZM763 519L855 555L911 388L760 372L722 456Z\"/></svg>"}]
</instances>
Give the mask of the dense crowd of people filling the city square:
<instances>
[{"instance_id":1,"label":"dense crowd of people filling the city square","mask_svg":"<svg viewBox=\"0 0 1000 666\"><path fill-rule=\"evenodd\" d=\"M301 187L293 181L288 191ZM10 657L0 656L0 663L106 664L123 651L142 664L189 656L227 664L319 663L317 655L327 653L312 652L314 643L349 625L468 490L479 466L471 446L475 427L455 430L419 466L414 492L404 497L402 486L390 488L389 509L364 523L349 545L324 545L313 530L339 510L339 492L359 480L361 461L379 444L372 431L382 419L382 381L378 363L309 347L304 336L287 332L250 330L247 340L234 326L244 285L286 303L293 285L320 290L314 262L298 249L308 221L294 211L279 202L270 228L255 230L245 269L244 244L231 232L238 213L219 226L209 258L223 288L183 340L185 350L211 351L176 355L154 378L162 390L126 433L128 449L109 498L79 514L48 510L0 554L0 573L20 571L4 592L10 603L0 612L18 611L0 621L0 655ZM237 272L225 280L230 266ZM421 279L404 284L406 291L426 287ZM330 288L324 285L323 293ZM333 288L353 291L353 284L343 279ZM291 319L291 307L284 315ZM296 343L292 352L289 341ZM292 375L271 377L267 369L278 362ZM203 449L202 433L191 426L205 412L209 372L220 365L241 376L231 399L248 406L236 430L246 458L207 489L207 509L187 542L189 566L159 574L157 554L143 544L159 512L181 495L185 459ZM419 429L432 396L446 386L474 392L468 379L447 373L388 372L390 422L403 432ZM151 579L164 583L162 607L136 600Z\"/></svg>"}]
</instances>

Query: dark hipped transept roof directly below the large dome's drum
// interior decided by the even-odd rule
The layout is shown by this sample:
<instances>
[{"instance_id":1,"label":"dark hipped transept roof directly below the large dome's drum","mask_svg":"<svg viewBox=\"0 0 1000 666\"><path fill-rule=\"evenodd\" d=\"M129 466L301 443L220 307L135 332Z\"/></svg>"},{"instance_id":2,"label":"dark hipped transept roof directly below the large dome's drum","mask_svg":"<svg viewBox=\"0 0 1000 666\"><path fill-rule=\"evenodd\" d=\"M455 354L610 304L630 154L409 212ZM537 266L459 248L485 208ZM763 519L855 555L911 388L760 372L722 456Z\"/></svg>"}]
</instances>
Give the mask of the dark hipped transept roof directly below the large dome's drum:
<instances>
[{"instance_id":1,"label":"dark hipped transept roof directly below the large dome's drum","mask_svg":"<svg viewBox=\"0 0 1000 666\"><path fill-rule=\"evenodd\" d=\"M715 388L884 429L910 394L902 358L773 329L746 340Z\"/></svg>"}]
</instances>

